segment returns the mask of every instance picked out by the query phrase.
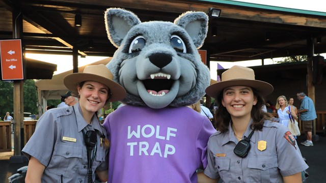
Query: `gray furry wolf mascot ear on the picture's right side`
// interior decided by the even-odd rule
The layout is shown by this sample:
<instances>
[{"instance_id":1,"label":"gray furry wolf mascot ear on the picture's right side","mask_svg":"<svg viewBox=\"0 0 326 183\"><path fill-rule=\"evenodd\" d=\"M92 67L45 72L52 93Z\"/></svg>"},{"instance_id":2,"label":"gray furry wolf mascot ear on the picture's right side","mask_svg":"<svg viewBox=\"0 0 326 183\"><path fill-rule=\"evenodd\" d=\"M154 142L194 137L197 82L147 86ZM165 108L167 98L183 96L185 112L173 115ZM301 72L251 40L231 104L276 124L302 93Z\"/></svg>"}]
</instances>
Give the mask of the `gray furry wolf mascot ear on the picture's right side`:
<instances>
[{"instance_id":1,"label":"gray furry wolf mascot ear on the picture's right side","mask_svg":"<svg viewBox=\"0 0 326 183\"><path fill-rule=\"evenodd\" d=\"M174 20L192 38L196 48L200 48L207 35L208 16L204 12L185 12Z\"/></svg>"}]
</instances>

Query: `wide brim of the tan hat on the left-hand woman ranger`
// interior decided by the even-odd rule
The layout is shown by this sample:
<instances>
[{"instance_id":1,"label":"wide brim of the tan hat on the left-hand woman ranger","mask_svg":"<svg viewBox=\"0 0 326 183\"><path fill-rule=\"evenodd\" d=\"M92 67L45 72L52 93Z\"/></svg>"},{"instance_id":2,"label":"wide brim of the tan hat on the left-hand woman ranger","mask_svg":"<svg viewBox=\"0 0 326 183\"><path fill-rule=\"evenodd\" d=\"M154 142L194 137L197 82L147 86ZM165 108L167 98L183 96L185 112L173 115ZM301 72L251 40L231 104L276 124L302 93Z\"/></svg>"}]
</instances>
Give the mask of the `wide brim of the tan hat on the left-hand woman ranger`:
<instances>
[{"instance_id":1,"label":"wide brim of the tan hat on the left-hand woman ranger","mask_svg":"<svg viewBox=\"0 0 326 183\"><path fill-rule=\"evenodd\" d=\"M72 73L63 79L64 85L76 95L78 95L77 85L83 81L96 81L107 86L111 92L109 102L120 101L126 97L126 90L120 84L102 76L89 73Z\"/></svg>"}]
</instances>

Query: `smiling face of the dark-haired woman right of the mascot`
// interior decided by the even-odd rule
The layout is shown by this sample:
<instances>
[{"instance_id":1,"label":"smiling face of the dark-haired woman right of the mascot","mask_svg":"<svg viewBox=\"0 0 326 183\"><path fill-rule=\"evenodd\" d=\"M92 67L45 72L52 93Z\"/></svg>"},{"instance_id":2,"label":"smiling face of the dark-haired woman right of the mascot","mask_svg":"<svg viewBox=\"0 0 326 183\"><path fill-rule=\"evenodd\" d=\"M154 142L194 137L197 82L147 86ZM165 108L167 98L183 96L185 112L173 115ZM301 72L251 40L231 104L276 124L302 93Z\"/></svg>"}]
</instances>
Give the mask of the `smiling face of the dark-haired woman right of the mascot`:
<instances>
[{"instance_id":1,"label":"smiling face of the dark-haired woman right of the mascot","mask_svg":"<svg viewBox=\"0 0 326 183\"><path fill-rule=\"evenodd\" d=\"M230 86L223 89L222 105L230 113L231 118L251 118L251 110L257 99L249 86Z\"/></svg>"}]
</instances>

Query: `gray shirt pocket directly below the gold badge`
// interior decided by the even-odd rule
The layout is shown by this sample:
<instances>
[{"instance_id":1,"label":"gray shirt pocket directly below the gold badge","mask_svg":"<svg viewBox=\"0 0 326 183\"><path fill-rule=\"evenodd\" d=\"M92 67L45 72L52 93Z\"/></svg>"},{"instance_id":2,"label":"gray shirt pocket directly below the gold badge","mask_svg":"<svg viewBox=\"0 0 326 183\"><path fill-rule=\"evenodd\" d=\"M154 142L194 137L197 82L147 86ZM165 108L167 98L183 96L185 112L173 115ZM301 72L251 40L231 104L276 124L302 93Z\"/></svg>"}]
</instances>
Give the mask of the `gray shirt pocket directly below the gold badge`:
<instances>
[{"instance_id":1,"label":"gray shirt pocket directly below the gold badge","mask_svg":"<svg viewBox=\"0 0 326 183\"><path fill-rule=\"evenodd\" d=\"M249 157L248 168L250 182L283 182L277 155Z\"/></svg>"}]
</instances>

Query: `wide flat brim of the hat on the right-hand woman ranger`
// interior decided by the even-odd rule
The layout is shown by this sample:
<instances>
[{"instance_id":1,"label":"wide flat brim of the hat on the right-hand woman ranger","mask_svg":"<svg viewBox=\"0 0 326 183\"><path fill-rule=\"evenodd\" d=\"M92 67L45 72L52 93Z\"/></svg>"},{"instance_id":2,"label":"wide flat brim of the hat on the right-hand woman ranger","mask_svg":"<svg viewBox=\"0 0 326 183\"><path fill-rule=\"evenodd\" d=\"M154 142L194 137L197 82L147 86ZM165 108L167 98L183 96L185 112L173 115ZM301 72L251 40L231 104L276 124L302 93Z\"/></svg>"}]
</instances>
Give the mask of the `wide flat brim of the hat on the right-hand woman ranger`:
<instances>
[{"instance_id":1,"label":"wide flat brim of the hat on the right-hand woman ranger","mask_svg":"<svg viewBox=\"0 0 326 183\"><path fill-rule=\"evenodd\" d=\"M273 93L274 87L264 81L259 80L249 80L249 79L234 79L228 81L221 81L208 86L205 90L209 97L217 98L220 92L229 86L250 86L257 90L257 92L262 96L267 96Z\"/></svg>"}]
</instances>

